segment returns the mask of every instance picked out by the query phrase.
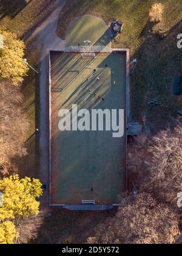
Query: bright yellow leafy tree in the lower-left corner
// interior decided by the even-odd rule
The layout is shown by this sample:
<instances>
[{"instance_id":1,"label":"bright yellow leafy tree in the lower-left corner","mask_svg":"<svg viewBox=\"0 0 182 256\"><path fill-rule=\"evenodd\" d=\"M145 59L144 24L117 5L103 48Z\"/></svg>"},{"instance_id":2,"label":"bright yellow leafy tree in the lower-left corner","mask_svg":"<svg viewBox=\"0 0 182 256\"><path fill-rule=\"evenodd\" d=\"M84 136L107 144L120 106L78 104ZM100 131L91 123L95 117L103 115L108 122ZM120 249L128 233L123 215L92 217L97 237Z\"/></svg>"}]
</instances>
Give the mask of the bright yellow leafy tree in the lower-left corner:
<instances>
[{"instance_id":1,"label":"bright yellow leafy tree in the lower-left corner","mask_svg":"<svg viewBox=\"0 0 182 256\"><path fill-rule=\"evenodd\" d=\"M38 215L39 202L36 197L42 196L42 184L38 179L29 177L19 179L18 175L0 180L0 192L3 204L0 207L0 243L12 243L18 236L11 220Z\"/></svg>"}]
</instances>

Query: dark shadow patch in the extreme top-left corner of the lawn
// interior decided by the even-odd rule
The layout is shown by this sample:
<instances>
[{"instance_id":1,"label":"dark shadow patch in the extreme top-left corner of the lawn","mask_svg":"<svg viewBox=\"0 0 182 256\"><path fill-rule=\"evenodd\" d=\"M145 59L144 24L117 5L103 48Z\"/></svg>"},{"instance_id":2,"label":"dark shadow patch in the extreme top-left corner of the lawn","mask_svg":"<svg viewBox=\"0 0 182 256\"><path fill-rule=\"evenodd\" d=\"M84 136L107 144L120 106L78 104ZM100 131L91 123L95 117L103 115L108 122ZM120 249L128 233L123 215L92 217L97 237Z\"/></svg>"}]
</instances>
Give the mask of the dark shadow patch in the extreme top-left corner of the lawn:
<instances>
[{"instance_id":1,"label":"dark shadow patch in the extreme top-left corner of the lawn","mask_svg":"<svg viewBox=\"0 0 182 256\"><path fill-rule=\"evenodd\" d=\"M15 18L31 1L32 0L2 0L0 3L0 20L5 16L8 16L10 19Z\"/></svg>"}]
</instances>

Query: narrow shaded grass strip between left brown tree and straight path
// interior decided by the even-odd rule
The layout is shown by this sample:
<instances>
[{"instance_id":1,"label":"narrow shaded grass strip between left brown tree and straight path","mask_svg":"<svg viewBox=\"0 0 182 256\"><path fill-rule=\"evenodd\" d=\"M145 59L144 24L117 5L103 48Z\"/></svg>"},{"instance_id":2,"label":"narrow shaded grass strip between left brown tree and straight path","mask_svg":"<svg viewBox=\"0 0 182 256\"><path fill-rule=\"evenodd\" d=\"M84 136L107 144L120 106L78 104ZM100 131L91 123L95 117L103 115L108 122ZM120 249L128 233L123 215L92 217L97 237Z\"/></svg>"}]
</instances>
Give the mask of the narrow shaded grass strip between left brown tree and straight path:
<instances>
[{"instance_id":1,"label":"narrow shaded grass strip between left brown tree and straight path","mask_svg":"<svg viewBox=\"0 0 182 256\"><path fill-rule=\"evenodd\" d=\"M37 85L39 77L29 70L29 76L24 77L21 93L24 95L22 110L26 113L30 121L29 134L25 140L24 147L27 149L27 155L19 157L16 155L13 162L18 168L20 177L31 177L39 179L39 87Z\"/></svg>"}]
</instances>

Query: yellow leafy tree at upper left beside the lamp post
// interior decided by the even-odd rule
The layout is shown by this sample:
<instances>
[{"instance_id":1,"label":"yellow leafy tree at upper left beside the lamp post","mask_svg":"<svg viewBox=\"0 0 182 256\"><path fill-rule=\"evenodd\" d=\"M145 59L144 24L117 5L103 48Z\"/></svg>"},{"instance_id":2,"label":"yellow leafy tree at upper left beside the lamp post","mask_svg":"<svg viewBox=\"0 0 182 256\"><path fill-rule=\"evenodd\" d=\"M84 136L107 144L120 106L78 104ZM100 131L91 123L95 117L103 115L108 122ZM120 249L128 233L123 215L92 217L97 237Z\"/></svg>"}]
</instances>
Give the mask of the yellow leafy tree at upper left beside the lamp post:
<instances>
[{"instance_id":1,"label":"yellow leafy tree at upper left beside the lamp post","mask_svg":"<svg viewBox=\"0 0 182 256\"><path fill-rule=\"evenodd\" d=\"M29 71L27 64L22 62L24 41L5 29L0 28L0 34L3 38L3 46L0 48L0 77L10 79L14 85L18 85Z\"/></svg>"}]
</instances>

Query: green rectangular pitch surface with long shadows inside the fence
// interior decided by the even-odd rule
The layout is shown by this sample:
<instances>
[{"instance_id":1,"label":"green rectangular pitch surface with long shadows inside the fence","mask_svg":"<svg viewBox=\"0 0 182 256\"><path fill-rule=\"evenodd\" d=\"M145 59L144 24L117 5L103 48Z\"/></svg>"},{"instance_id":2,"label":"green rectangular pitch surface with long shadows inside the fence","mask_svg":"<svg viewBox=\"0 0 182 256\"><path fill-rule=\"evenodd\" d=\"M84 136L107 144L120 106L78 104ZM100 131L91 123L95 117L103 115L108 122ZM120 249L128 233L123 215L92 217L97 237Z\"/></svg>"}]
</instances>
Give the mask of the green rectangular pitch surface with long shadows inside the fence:
<instances>
[{"instance_id":1,"label":"green rectangular pitch surface with long shadows inside the fence","mask_svg":"<svg viewBox=\"0 0 182 256\"><path fill-rule=\"evenodd\" d=\"M78 110L125 109L126 54L103 53L83 59L81 54L52 53L51 64L52 204L81 204L83 199L117 204L126 185L126 135L113 138L112 131L60 132L58 111L70 109L72 104Z\"/></svg>"}]
</instances>

